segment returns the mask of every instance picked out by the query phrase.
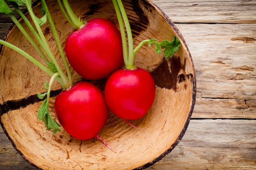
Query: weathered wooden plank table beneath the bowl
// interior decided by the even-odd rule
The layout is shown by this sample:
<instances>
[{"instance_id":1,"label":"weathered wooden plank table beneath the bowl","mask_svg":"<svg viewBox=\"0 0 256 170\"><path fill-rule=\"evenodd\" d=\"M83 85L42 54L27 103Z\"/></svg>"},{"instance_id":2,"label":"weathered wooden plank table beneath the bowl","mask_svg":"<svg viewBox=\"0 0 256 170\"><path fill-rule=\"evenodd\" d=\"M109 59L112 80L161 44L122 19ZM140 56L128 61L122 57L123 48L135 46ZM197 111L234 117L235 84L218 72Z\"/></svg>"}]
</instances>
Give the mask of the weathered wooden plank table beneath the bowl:
<instances>
[{"instance_id":1,"label":"weathered wooden plank table beneath the bowl","mask_svg":"<svg viewBox=\"0 0 256 170\"><path fill-rule=\"evenodd\" d=\"M186 40L197 97L180 143L147 170L256 169L256 0L152 1ZM11 23L0 21L2 39ZM35 169L2 128L0 169Z\"/></svg>"}]
</instances>

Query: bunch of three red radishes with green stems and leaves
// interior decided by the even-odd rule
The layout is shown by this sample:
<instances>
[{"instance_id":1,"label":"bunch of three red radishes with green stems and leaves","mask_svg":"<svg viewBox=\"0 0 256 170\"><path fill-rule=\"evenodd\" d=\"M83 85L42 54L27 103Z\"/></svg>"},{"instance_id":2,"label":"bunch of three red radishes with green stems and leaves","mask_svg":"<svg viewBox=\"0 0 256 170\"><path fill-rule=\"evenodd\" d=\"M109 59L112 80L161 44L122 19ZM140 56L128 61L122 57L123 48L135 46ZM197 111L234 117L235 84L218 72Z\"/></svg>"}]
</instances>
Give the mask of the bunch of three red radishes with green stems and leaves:
<instances>
[{"instance_id":1,"label":"bunch of three red radishes with green stems and leaves","mask_svg":"<svg viewBox=\"0 0 256 170\"><path fill-rule=\"evenodd\" d=\"M171 42L165 40L159 43L155 39L144 40L133 49L132 32L121 0L113 0L120 31L115 24L103 18L95 18L88 22L79 20L67 0L58 0L63 15L74 27L74 31L70 33L65 42L64 52L45 0L41 0L43 18L37 18L33 13L30 0L8 1L25 21L41 48L16 20L13 11L4 0L0 0L0 12L11 17L48 67L8 42L0 40L0 44L22 54L51 77L50 81L45 83L47 92L38 93L38 97L44 100L37 117L44 122L47 130L56 133L61 131L60 126L62 126L74 138L88 140L96 137L108 146L99 136L99 132L106 124L109 109L129 124L128 120L139 119L148 112L155 99L155 82L148 71L134 65L135 54L142 45L148 43L150 47L151 44L155 44L156 52L160 54L161 49L164 49L167 59L180 46L180 41L176 37ZM19 5L26 5L33 23L30 23L20 11ZM66 74L53 55L40 28L47 21L54 35ZM105 95L90 82L73 84L68 62L85 79L98 80L108 77ZM124 68L121 68L123 64ZM63 87L63 91L56 97L54 104L60 124L49 113L49 97L54 80Z\"/></svg>"}]
</instances>

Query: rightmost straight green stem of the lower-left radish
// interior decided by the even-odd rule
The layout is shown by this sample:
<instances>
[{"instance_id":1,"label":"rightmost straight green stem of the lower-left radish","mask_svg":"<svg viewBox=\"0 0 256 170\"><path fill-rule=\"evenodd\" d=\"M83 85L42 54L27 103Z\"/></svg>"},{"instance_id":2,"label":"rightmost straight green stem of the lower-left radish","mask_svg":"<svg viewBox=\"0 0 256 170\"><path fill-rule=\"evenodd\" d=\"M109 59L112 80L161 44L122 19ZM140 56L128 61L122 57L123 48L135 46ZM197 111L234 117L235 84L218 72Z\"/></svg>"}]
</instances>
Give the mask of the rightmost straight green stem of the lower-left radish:
<instances>
[{"instance_id":1,"label":"rightmost straight green stem of the lower-left radish","mask_svg":"<svg viewBox=\"0 0 256 170\"><path fill-rule=\"evenodd\" d=\"M45 13L46 13L46 16L47 16L49 25L50 25L50 27L51 27L51 29L52 29L52 33L53 33L53 35L54 35L54 39L55 39L56 44L57 44L57 47L58 47L58 51L59 51L60 54L61 54L61 58L62 58L62 60L63 60L64 66L65 66L65 68L66 68L68 79L69 79L69 81L70 81L71 84L72 84L72 75L71 75L71 72L70 72L70 68L69 68L69 66L68 66L66 57L65 57L65 55L64 55L64 51L63 51L63 49L62 49L61 42L60 42L60 40L59 40L59 38L58 38L58 34L57 34L56 29L55 29L54 22L53 22L53 20L52 20L52 17L51 17L51 15L50 15L50 12L49 12L49 10L48 10L48 7L47 7L47 5L46 5L46 3L45 3L45 0L41 0L41 3L42 3L43 8L44 8L44 10L45 10Z\"/></svg>"}]
</instances>

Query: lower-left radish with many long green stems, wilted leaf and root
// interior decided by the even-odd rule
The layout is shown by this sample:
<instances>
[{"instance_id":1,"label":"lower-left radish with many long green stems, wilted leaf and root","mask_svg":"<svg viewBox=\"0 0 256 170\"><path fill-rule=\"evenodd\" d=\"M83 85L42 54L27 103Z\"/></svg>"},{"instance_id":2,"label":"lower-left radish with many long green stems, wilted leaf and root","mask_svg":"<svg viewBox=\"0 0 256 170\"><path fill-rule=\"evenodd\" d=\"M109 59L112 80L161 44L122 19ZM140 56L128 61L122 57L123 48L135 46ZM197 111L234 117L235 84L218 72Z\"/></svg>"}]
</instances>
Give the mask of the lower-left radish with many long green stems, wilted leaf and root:
<instances>
[{"instance_id":1,"label":"lower-left radish with many long green stems, wilted leaf and root","mask_svg":"<svg viewBox=\"0 0 256 170\"><path fill-rule=\"evenodd\" d=\"M37 117L40 121L43 121L46 130L52 130L52 132L56 134L57 131L61 131L60 126L63 126L63 128L74 138L88 140L96 137L103 141L108 148L110 148L108 144L106 144L106 142L99 136L101 128L106 124L108 119L108 107L106 105L103 92L97 86L89 82L78 82L73 85L70 68L67 60L65 59L64 51L58 39L56 28L47 8L47 4L45 0L41 0L41 3L44 16L43 18L37 18L31 8L30 0L10 0L10 4L18 11L22 19L28 25L30 31L35 36L41 48L39 48L23 26L13 17L13 11L4 2L4 0L0 0L0 12L8 14L13 19L15 24L22 31L29 42L31 42L40 56L43 57L43 60L46 62L48 67L13 44L10 44L4 40L0 40L0 44L17 51L28 60L36 64L36 66L45 71L45 73L51 77L49 83L46 82L44 86L47 92L42 94L38 93L38 98L44 100L38 110ZM33 24L30 23L26 16L20 11L18 5L25 5L27 7ZM40 26L45 24L46 21L49 22L67 74L64 73L60 64L57 62L47 40L45 39L43 31L40 28ZM41 51L41 49L43 51ZM63 91L56 97L54 104L54 110L60 124L58 124L58 122L52 118L52 115L50 115L49 112L49 98L54 80L57 80L63 87Z\"/></svg>"}]
</instances>

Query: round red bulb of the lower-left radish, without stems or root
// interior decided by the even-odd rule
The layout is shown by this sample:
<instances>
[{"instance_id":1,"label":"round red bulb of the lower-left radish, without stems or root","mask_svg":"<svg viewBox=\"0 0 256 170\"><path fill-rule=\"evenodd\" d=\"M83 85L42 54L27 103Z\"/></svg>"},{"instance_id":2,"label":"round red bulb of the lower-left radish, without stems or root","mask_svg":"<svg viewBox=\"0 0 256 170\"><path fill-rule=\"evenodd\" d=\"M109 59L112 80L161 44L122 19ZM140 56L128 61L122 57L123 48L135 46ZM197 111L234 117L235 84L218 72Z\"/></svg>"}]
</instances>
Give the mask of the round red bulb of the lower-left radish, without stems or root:
<instances>
[{"instance_id":1,"label":"round red bulb of the lower-left radish, without stems or root","mask_svg":"<svg viewBox=\"0 0 256 170\"><path fill-rule=\"evenodd\" d=\"M78 82L62 91L56 97L54 109L61 126L81 140L97 137L108 119L103 93L89 82Z\"/></svg>"}]
</instances>

